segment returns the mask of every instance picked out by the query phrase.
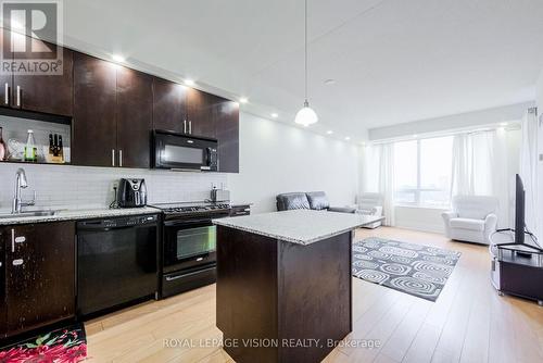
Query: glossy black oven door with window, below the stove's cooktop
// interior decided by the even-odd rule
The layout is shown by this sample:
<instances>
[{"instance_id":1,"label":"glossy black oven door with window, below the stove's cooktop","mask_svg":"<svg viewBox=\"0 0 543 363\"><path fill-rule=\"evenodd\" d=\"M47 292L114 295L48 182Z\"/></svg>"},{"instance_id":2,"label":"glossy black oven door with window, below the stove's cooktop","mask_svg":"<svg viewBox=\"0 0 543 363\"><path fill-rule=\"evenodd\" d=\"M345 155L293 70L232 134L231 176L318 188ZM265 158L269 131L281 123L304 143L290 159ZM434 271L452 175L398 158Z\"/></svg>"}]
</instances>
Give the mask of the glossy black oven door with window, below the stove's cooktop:
<instances>
[{"instance_id":1,"label":"glossy black oven door with window, below the stove's cooktop","mask_svg":"<svg viewBox=\"0 0 543 363\"><path fill-rule=\"evenodd\" d=\"M164 272L215 264L216 236L211 218L164 222Z\"/></svg>"}]
</instances>

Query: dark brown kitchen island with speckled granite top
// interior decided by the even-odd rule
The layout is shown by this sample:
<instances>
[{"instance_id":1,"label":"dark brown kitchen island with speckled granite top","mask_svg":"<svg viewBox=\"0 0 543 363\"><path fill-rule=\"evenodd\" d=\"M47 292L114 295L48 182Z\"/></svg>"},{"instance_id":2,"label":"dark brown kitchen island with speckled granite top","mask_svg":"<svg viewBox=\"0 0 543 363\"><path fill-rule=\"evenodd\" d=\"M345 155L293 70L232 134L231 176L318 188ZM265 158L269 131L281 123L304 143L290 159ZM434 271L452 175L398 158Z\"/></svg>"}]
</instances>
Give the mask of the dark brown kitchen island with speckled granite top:
<instances>
[{"instance_id":1,"label":"dark brown kitchen island with speckled granite top","mask_svg":"<svg viewBox=\"0 0 543 363\"><path fill-rule=\"evenodd\" d=\"M352 330L353 230L381 217L295 210L215 220L217 327L236 362L319 362Z\"/></svg>"}]
</instances>

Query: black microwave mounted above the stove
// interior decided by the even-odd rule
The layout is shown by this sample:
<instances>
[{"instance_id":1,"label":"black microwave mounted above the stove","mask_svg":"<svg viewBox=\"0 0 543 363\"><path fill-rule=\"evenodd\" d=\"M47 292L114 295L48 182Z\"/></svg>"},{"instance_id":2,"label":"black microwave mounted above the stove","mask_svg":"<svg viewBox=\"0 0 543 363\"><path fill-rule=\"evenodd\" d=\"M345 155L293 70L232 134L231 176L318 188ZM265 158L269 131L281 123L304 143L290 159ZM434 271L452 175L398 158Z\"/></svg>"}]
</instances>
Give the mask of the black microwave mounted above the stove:
<instances>
[{"instance_id":1,"label":"black microwave mounted above the stove","mask_svg":"<svg viewBox=\"0 0 543 363\"><path fill-rule=\"evenodd\" d=\"M155 168L216 172L218 142L165 130L154 130Z\"/></svg>"}]
</instances>

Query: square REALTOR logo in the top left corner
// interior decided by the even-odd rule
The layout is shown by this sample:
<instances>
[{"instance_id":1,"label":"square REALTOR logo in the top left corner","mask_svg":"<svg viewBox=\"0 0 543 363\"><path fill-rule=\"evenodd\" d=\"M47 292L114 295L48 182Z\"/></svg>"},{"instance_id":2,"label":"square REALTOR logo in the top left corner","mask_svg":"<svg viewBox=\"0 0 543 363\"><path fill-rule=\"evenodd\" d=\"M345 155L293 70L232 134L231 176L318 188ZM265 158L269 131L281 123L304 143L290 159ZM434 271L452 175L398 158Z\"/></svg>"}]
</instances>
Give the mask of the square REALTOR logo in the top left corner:
<instances>
[{"instance_id":1,"label":"square REALTOR logo in the top left corner","mask_svg":"<svg viewBox=\"0 0 543 363\"><path fill-rule=\"evenodd\" d=\"M1 74L62 75L62 2L0 1Z\"/></svg>"}]
</instances>

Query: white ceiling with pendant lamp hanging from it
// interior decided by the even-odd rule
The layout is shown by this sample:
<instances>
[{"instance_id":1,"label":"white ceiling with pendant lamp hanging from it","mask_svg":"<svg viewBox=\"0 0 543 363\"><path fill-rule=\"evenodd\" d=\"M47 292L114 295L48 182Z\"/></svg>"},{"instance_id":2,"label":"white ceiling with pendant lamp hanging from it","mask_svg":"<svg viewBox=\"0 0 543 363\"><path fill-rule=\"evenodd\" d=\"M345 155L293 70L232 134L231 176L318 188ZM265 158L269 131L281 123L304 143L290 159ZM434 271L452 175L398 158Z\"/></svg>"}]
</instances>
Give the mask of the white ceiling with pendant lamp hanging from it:
<instances>
[{"instance_id":1,"label":"white ceiling with pendant lamp hanging from it","mask_svg":"<svg viewBox=\"0 0 543 363\"><path fill-rule=\"evenodd\" d=\"M247 96L292 122L303 102L303 0L70 0L65 41ZM310 0L317 132L368 128L534 99L542 0ZM334 85L324 80L336 79Z\"/></svg>"}]
</instances>

